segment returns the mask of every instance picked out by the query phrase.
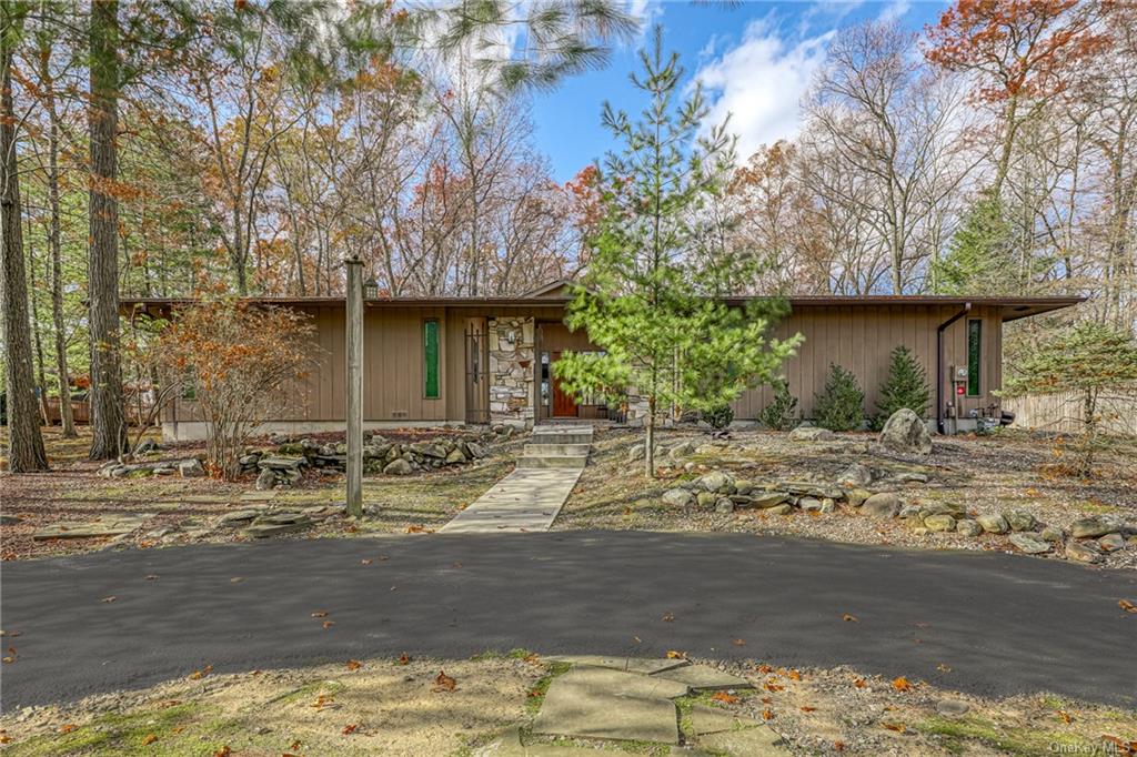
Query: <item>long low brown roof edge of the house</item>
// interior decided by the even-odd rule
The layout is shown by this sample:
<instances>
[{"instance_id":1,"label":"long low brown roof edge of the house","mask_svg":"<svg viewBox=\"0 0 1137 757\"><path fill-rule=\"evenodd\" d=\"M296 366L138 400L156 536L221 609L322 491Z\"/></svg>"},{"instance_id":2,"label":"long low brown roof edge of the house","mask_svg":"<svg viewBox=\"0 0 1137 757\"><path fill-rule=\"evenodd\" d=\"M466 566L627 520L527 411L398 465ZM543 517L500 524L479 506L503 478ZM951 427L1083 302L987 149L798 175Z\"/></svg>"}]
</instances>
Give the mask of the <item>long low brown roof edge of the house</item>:
<instances>
[{"instance_id":1,"label":"long low brown roof edge of the house","mask_svg":"<svg viewBox=\"0 0 1137 757\"><path fill-rule=\"evenodd\" d=\"M514 297L390 297L367 300L366 307L556 307L571 298L565 285L558 281ZM342 297L247 297L243 301L254 305L277 307L342 307ZM725 298L729 305L744 305L761 297ZM1016 321L1029 316L1069 308L1086 300L1085 297L956 297L944 294L808 294L789 297L791 308L798 307L871 307L871 306L956 306L999 307L1003 321ZM125 311L158 310L184 307L199 300L186 297L124 297L119 300Z\"/></svg>"}]
</instances>

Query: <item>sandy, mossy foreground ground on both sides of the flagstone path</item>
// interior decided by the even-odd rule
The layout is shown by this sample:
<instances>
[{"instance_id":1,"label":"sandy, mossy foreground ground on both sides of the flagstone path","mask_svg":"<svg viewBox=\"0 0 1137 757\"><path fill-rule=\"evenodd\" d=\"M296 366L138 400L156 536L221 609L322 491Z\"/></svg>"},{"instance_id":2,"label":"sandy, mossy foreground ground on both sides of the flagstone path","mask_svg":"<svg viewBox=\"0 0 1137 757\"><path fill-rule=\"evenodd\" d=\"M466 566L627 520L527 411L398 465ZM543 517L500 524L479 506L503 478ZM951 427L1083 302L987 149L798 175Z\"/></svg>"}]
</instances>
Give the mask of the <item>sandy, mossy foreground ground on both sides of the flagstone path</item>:
<instances>
[{"instance_id":1,"label":"sandy, mossy foreground ground on both sides of the flagstone path","mask_svg":"<svg viewBox=\"0 0 1137 757\"><path fill-rule=\"evenodd\" d=\"M707 754L698 750L684 717L694 704L764 722L795 755L1120 755L1128 754L1121 746L1137 740L1137 713L1046 694L1001 700L960 694L951 690L946 666L939 681L908 682L849 668L695 662L740 675L754 689L678 700L684 740L679 754ZM520 729L528 746L550 743L528 727L564 669L526 650L232 675L207 669L141 691L6 713L0 739L10 757L476 755L508 729ZM551 742L675 754L645 742ZM1103 746L1119 749L1102 751Z\"/></svg>"}]
</instances>

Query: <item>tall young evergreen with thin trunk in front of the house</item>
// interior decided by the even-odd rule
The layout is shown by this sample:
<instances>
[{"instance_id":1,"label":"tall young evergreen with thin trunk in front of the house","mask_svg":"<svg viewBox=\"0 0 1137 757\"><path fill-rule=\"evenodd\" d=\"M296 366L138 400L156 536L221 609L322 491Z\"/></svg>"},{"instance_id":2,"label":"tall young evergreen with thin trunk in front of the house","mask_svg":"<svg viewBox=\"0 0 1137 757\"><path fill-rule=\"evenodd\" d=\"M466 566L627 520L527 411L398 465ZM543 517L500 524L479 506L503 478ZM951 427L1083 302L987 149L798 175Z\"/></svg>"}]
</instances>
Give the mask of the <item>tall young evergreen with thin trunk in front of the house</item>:
<instances>
[{"instance_id":1,"label":"tall young evergreen with thin trunk in front of the house","mask_svg":"<svg viewBox=\"0 0 1137 757\"><path fill-rule=\"evenodd\" d=\"M566 353L554 372L572 392L641 398L653 476L655 425L664 413L714 410L769 382L799 338L769 336L780 308L757 301L730 308L714 297L723 282L749 283L745 264L732 256L692 263L699 211L720 191L733 143L722 126L698 136L707 115L698 85L677 103L683 69L677 55L663 53L658 27L640 59L644 73L631 81L648 102L639 119L604 107L604 124L623 148L599 169L601 211L588 239L588 274L565 317L603 352Z\"/></svg>"}]
</instances>

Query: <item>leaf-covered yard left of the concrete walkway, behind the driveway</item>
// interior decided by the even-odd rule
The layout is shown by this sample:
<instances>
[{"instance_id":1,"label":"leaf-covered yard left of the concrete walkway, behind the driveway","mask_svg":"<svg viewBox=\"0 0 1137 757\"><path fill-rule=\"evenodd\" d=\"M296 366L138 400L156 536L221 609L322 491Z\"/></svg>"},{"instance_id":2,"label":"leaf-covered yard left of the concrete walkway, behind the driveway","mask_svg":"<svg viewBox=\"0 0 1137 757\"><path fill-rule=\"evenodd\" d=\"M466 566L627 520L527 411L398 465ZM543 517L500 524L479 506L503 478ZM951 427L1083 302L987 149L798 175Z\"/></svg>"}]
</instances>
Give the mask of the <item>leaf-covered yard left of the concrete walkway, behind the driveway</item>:
<instances>
[{"instance_id":1,"label":"leaf-covered yard left of the concrete walkway, behind the driveway","mask_svg":"<svg viewBox=\"0 0 1137 757\"><path fill-rule=\"evenodd\" d=\"M393 431L389 439L429 440L453 434L446 430ZM241 541L238 527L222 527L221 518L252 507L309 511L324 509L315 524L284 538L357 536L370 533L433 530L475 500L513 466L520 442L489 444L489 455L470 465L447 466L406 476L364 476L366 517L358 523L342 517L337 506L345 498L341 473L309 468L294 488L254 491L256 473L235 482L210 477L147 476L107 479L99 464L86 460L90 436L63 439L58 429L44 430L52 469L11 476L0 474L0 555L6 560L49 557L117 546L155 548L191 542ZM151 434L157 441L157 435ZM2 438L0 438L2 440ZM273 449L266 440L255 448ZM205 451L202 442L161 444L147 461L177 460ZM44 526L88 523L98 518L135 518L136 527L121 536L35 540ZM14 518L9 522L8 518ZM131 521L133 525L134 519Z\"/></svg>"}]
</instances>

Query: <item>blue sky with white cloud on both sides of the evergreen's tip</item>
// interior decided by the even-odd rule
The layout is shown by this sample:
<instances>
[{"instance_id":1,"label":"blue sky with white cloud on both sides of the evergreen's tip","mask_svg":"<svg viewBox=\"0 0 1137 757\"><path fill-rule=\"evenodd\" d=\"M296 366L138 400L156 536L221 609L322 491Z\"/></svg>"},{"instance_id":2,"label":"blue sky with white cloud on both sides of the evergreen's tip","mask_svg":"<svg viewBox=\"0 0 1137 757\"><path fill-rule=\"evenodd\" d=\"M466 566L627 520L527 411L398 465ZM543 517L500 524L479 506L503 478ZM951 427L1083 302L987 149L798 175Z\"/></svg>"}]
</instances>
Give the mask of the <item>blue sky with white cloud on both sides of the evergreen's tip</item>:
<instances>
[{"instance_id":1,"label":"blue sky with white cloud on both sides of the evergreen's tip","mask_svg":"<svg viewBox=\"0 0 1137 757\"><path fill-rule=\"evenodd\" d=\"M696 3L630 0L633 13L664 27L664 44L680 53L688 80L707 88L717 122L729 111L745 159L760 144L791 138L799 125L798 103L825 44L841 26L868 18L895 17L914 30L935 23L947 2L742 2ZM612 145L600 126L605 100L638 111L642 100L628 81L638 69L632 44L612 56L603 70L565 81L536 95L537 145L549 156L553 174L564 182Z\"/></svg>"}]
</instances>

